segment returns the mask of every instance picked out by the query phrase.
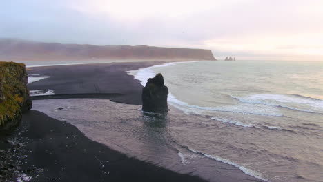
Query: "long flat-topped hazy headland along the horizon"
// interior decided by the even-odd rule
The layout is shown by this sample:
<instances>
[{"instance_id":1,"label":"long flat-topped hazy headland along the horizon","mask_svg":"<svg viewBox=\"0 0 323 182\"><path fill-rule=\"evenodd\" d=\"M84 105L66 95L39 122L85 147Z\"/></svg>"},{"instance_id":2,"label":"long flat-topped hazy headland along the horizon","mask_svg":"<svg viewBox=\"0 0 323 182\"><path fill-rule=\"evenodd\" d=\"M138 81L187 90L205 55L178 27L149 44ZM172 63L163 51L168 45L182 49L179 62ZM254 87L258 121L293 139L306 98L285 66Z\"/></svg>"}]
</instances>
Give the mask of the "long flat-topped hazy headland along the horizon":
<instances>
[{"instance_id":1,"label":"long flat-topped hazy headland along the horizon","mask_svg":"<svg viewBox=\"0 0 323 182\"><path fill-rule=\"evenodd\" d=\"M28 60L155 60L189 61L216 60L211 50L188 48L159 48L146 45L88 45L61 44L25 41L21 39L0 39L0 61Z\"/></svg>"}]
</instances>

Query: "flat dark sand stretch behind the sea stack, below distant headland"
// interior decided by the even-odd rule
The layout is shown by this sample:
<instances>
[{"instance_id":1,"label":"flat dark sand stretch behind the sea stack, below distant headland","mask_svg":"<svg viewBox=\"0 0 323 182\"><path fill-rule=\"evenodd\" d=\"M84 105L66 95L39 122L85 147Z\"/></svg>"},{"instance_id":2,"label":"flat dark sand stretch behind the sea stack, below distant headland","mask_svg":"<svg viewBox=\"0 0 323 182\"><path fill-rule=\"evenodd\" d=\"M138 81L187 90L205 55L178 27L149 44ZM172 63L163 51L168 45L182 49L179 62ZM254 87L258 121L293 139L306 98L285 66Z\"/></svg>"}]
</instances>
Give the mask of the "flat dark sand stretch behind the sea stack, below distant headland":
<instances>
[{"instance_id":1,"label":"flat dark sand stretch behind the sea stack, below distant headland","mask_svg":"<svg viewBox=\"0 0 323 182\"><path fill-rule=\"evenodd\" d=\"M164 62L100 63L29 68L28 74L50 76L30 83L30 90L54 90L55 94L124 94L111 99L121 103L141 104L142 85L126 71L138 70Z\"/></svg>"}]
</instances>

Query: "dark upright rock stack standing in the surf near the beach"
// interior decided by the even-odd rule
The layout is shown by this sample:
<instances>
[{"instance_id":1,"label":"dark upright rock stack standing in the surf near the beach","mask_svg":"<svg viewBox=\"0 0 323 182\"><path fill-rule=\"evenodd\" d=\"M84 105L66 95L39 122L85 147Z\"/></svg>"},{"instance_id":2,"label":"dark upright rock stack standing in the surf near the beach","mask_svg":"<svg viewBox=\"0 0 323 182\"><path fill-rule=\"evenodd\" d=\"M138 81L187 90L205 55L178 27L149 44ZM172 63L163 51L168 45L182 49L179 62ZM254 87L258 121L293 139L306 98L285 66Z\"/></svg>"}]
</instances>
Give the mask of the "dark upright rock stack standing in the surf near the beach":
<instances>
[{"instance_id":1,"label":"dark upright rock stack standing in the surf near the beach","mask_svg":"<svg viewBox=\"0 0 323 182\"><path fill-rule=\"evenodd\" d=\"M145 112L168 112L167 105L168 88L164 85L164 77L161 73L155 78L148 79L142 89L142 110Z\"/></svg>"}]
</instances>

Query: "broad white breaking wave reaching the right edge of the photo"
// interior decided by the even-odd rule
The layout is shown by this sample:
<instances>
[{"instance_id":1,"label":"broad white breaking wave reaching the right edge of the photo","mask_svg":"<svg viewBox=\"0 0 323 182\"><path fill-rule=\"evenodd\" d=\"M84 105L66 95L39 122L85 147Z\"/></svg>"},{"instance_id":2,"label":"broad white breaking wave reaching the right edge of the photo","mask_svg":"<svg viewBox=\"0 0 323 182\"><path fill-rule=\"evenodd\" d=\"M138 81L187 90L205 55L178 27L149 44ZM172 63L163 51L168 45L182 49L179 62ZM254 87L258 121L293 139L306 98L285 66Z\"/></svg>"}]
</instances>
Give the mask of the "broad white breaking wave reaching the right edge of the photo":
<instances>
[{"instance_id":1,"label":"broad white breaking wave reaching the right edge of the photo","mask_svg":"<svg viewBox=\"0 0 323 182\"><path fill-rule=\"evenodd\" d=\"M232 98L241 101L242 103L251 103L251 104L262 104L269 105L273 107L286 108L289 110L297 110L301 112L310 112L310 113L319 113L321 110L323 111L323 100L314 99L311 97L304 97L301 95L293 94L293 95L284 95L284 94L252 94L247 97L235 97ZM302 104L309 106L310 109L313 110L305 110L301 108L295 108L288 105L291 104Z\"/></svg>"}]
</instances>

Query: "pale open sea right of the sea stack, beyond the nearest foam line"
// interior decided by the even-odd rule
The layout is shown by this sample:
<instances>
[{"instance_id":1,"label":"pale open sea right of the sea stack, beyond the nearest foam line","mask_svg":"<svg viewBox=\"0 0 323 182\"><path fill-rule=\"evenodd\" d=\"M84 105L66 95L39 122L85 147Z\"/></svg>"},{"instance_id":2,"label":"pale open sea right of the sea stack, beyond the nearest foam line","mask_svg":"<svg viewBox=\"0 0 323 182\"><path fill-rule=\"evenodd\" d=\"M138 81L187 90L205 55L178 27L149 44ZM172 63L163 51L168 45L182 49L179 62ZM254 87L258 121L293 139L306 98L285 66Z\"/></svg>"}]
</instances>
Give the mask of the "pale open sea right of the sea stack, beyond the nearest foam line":
<instances>
[{"instance_id":1,"label":"pale open sea right of the sea stack, beyond the nearest foam line","mask_svg":"<svg viewBox=\"0 0 323 182\"><path fill-rule=\"evenodd\" d=\"M130 74L145 85L157 72L169 103L197 117L174 134L192 152L269 181L323 181L323 62L196 61Z\"/></svg>"}]
</instances>

